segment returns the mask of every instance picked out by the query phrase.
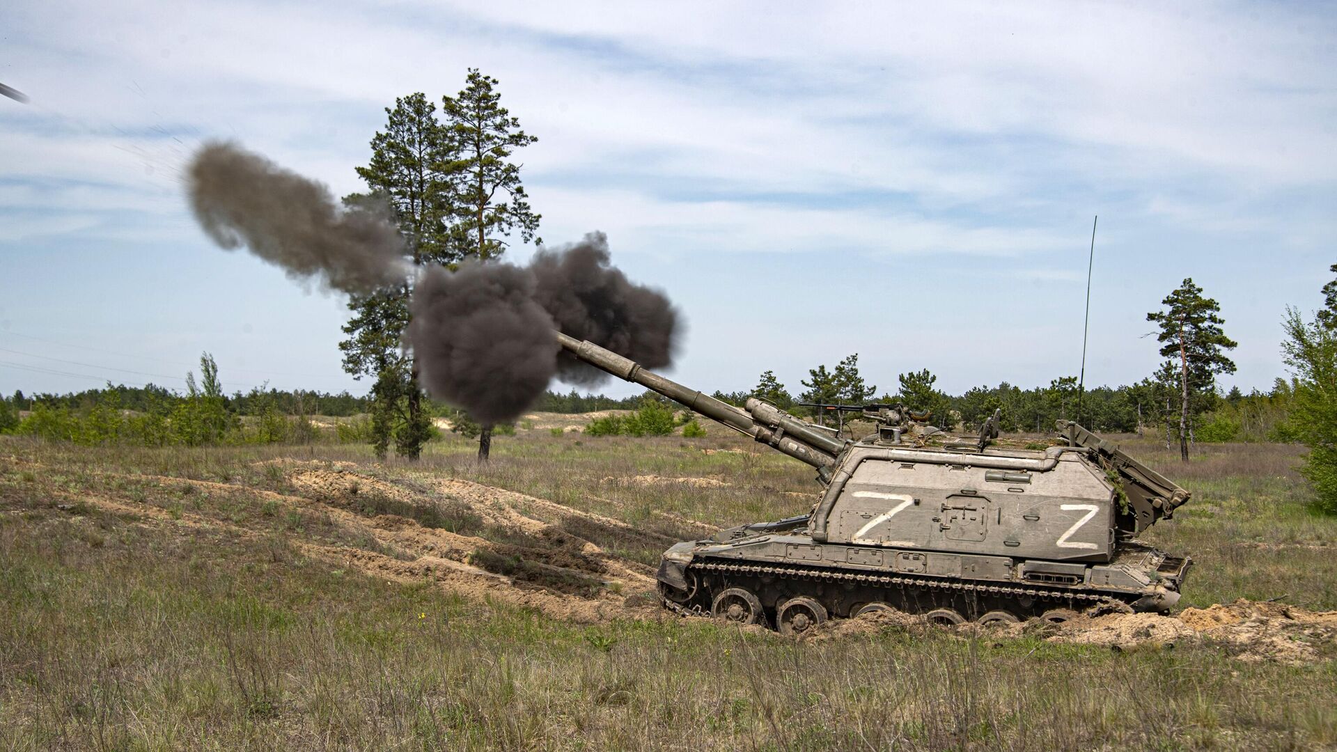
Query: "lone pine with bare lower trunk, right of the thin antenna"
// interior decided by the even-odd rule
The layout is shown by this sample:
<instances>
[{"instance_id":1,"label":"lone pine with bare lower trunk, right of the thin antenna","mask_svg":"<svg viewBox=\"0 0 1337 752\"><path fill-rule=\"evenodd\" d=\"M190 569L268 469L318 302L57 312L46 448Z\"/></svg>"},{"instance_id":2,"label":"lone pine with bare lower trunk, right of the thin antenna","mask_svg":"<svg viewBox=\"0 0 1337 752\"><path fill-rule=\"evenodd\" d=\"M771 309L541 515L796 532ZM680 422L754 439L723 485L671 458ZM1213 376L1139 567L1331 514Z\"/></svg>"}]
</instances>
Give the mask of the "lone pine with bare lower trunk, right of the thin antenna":
<instances>
[{"instance_id":1,"label":"lone pine with bare lower trunk, right of the thin antenna","mask_svg":"<svg viewBox=\"0 0 1337 752\"><path fill-rule=\"evenodd\" d=\"M1147 313L1147 321L1161 325L1157 337L1162 343L1161 356L1178 361L1179 459L1189 462L1190 420L1203 409L1206 392L1215 396L1217 375L1235 372L1235 364L1225 351L1234 349L1238 343L1221 329L1225 324L1218 316L1221 306L1202 297L1202 288L1194 285L1191 278L1161 304L1165 310Z\"/></svg>"}]
</instances>

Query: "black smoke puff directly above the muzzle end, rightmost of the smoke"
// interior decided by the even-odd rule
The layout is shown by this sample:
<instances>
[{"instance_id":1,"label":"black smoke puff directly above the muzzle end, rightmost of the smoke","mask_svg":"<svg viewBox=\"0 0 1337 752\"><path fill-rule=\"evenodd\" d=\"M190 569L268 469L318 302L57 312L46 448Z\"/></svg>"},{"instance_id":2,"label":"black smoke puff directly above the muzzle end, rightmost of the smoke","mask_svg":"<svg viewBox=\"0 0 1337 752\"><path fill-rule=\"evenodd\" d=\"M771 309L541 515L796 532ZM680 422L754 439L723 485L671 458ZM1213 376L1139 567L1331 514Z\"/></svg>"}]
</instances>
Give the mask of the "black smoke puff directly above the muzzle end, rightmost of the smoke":
<instances>
[{"instance_id":1,"label":"black smoke puff directly above the muzzle end, rightmost of the smoke","mask_svg":"<svg viewBox=\"0 0 1337 752\"><path fill-rule=\"evenodd\" d=\"M558 329L608 348L647 368L673 363L678 313L659 290L632 284L608 265L608 238L590 233L578 244L541 249L529 262L533 297ZM606 373L562 351L558 375L571 384L594 385Z\"/></svg>"}]
</instances>

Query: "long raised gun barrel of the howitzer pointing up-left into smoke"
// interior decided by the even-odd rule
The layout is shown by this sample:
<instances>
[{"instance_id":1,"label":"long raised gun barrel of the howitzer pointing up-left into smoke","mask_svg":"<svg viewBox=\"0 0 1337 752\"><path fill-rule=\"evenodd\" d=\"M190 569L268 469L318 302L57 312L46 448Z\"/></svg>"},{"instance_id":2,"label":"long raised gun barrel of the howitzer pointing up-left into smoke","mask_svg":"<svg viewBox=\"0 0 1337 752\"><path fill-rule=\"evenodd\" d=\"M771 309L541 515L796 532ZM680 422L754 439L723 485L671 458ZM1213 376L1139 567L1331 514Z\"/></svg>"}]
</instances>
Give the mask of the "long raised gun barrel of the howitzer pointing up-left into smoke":
<instances>
[{"instance_id":1,"label":"long raised gun barrel of the howitzer pointing up-left into smoke","mask_svg":"<svg viewBox=\"0 0 1337 752\"><path fill-rule=\"evenodd\" d=\"M844 448L844 444L834 438L808 430L797 419L778 415L779 411L766 403L758 401L757 404L762 407L757 411L743 411L671 379L664 379L652 371L646 371L634 360L604 349L591 341L578 340L562 332L556 332L556 336L558 344L584 363L618 379L654 389L687 409L723 423L739 434L746 434L763 444L769 444L794 459L818 468L820 474L829 474L830 468L836 464L836 454ZM753 400L749 400L749 408L753 408ZM777 415L770 416L765 408L771 408ZM763 423L770 423L771 426Z\"/></svg>"}]
</instances>

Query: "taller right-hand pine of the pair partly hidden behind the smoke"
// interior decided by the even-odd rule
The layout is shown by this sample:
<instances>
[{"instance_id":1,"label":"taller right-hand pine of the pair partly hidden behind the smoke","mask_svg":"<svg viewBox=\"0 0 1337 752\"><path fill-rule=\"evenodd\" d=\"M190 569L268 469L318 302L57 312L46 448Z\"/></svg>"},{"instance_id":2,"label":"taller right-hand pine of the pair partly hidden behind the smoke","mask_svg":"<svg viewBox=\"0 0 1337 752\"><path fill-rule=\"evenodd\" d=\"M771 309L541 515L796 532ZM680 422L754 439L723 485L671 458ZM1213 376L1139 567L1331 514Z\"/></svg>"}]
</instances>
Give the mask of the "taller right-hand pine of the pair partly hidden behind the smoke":
<instances>
[{"instance_id":1,"label":"taller right-hand pine of the pair partly hidden behind the smoke","mask_svg":"<svg viewBox=\"0 0 1337 752\"><path fill-rule=\"evenodd\" d=\"M539 140L520 128L520 119L501 107L493 90L497 80L469 68L465 87L441 103L447 131L456 151L441 165L451 175L455 225L452 248L460 257L479 261L499 258L512 233L524 242L535 241L540 215L529 207L520 183L520 165L509 157ZM492 426L479 434L479 459L492 448Z\"/></svg>"}]
</instances>

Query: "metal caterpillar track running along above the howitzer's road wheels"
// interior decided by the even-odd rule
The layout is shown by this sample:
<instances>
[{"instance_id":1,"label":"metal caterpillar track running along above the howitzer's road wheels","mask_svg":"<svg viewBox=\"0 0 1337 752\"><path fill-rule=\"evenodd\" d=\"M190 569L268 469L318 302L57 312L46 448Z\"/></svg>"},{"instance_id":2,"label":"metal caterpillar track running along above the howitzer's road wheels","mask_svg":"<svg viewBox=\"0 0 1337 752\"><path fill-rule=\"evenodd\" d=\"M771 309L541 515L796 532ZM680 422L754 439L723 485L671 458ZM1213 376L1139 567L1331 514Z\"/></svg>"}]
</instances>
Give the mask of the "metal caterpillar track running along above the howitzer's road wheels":
<instances>
[{"instance_id":1,"label":"metal caterpillar track running along above the howitzer's road wheels","mask_svg":"<svg viewBox=\"0 0 1337 752\"><path fill-rule=\"evenodd\" d=\"M906 587L924 589L931 593L936 591L947 597L955 595L980 595L992 599L1004 599L1021 602L1024 599L1031 599L1032 602L1039 601L1056 601L1062 605L1075 607L1078 610L1087 612L1128 612L1131 610L1127 601L1136 599L1135 594L1123 595L1123 598L1114 595L1104 595L1099 593L1082 593L1072 591L1063 587L1036 587L1036 586L1012 586L1012 585L995 585L984 582L971 582L971 581L951 581L951 579L937 579L928 577L904 577L904 575L890 575L890 574L877 574L877 573L862 573L862 571L840 571L821 567L805 567L796 565L755 565L755 563L737 563L730 561L711 561L702 559L693 562L687 566L687 571L698 575L719 575L723 578L730 577L775 577L783 579L797 579L808 583L852 583L858 586L865 586L870 589L897 589L904 590ZM1124 599L1127 598L1127 601ZM689 598L683 602L674 602L673 599L660 595L663 605L681 614L681 616L710 616L710 603L693 602L698 601L699 594ZM1080 606L1078 606L1080 603ZM824 603L832 616L836 614L836 609L832 609L829 603ZM936 606L937 603L935 603ZM945 603L944 603L945 605ZM932 607L932 606L931 606ZM1032 606L1016 609L1023 613L1038 612ZM1020 614L1019 614L1020 616ZM1032 614L1035 616L1035 614Z\"/></svg>"}]
</instances>

